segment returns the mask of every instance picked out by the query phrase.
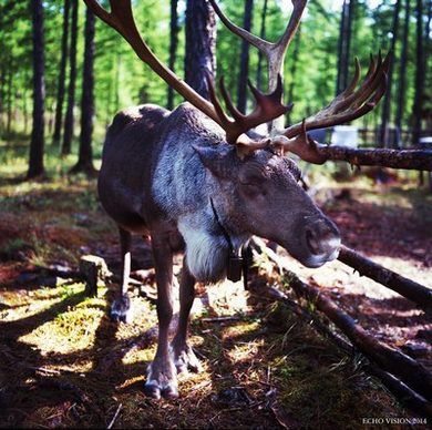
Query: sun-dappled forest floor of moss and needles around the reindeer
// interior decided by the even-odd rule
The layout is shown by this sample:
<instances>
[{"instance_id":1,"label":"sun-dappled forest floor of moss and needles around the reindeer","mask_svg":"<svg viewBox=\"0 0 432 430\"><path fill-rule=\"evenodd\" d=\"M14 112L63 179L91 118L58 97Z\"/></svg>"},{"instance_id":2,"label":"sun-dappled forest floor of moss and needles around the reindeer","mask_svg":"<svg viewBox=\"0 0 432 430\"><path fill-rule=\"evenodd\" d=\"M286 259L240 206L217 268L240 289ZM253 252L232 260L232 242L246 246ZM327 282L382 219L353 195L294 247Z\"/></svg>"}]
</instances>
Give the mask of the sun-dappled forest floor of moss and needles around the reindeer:
<instances>
[{"instance_id":1,"label":"sun-dappled forest floor of moss and needles around the reindeer","mask_svg":"<svg viewBox=\"0 0 432 430\"><path fill-rule=\"evenodd\" d=\"M82 283L41 270L76 269L80 256L93 254L119 273L116 228L94 180L51 162L50 180L22 182L23 160L0 160L0 427L356 429L371 418L421 418L359 357L240 283L198 286L191 331L204 371L179 378L177 400L146 398L153 283L146 295L131 288L133 324L117 325L107 318L115 285L101 284L89 298ZM432 195L412 175L387 185L364 175L326 178L315 191L347 246L431 287ZM133 268L148 269L148 244L135 239L134 250ZM284 258L368 331L431 366L431 318L418 307L340 262L311 270Z\"/></svg>"}]
</instances>

